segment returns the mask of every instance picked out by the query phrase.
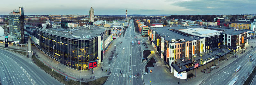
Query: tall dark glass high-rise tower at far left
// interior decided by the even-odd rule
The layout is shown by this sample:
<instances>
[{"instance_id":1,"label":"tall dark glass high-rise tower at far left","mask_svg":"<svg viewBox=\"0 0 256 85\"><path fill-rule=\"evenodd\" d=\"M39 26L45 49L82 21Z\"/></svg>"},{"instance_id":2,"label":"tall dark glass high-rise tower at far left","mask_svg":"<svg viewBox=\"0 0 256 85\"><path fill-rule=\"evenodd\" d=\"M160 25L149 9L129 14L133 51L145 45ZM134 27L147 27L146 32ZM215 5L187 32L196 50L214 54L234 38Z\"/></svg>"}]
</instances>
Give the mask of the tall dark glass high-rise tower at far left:
<instances>
[{"instance_id":1,"label":"tall dark glass high-rise tower at far left","mask_svg":"<svg viewBox=\"0 0 256 85\"><path fill-rule=\"evenodd\" d=\"M23 7L9 13L9 31L13 41L24 44L24 12Z\"/></svg>"}]
</instances>

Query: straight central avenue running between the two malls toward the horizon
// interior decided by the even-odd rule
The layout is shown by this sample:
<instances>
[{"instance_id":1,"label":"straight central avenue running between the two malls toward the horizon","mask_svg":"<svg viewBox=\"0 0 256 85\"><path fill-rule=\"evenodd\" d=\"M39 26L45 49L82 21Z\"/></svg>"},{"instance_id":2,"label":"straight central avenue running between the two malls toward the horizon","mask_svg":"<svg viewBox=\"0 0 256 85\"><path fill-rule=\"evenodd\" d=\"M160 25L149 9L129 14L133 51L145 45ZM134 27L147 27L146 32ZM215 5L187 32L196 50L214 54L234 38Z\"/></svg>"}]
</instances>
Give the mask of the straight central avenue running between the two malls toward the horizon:
<instances>
[{"instance_id":1,"label":"straight central avenue running between the two malls toward the horizon","mask_svg":"<svg viewBox=\"0 0 256 85\"><path fill-rule=\"evenodd\" d=\"M108 81L105 82L105 85L143 84L142 76L135 78L135 74L137 75L137 73L139 73L141 75L142 72L140 70L141 49L138 40L134 38L137 35L134 33L133 21L131 20L130 22L132 23L129 24L125 35L117 39L116 53L118 53L118 55L113 64L111 64L113 68L111 69L111 74L108 77ZM132 41L134 41L134 45L132 45Z\"/></svg>"}]
</instances>

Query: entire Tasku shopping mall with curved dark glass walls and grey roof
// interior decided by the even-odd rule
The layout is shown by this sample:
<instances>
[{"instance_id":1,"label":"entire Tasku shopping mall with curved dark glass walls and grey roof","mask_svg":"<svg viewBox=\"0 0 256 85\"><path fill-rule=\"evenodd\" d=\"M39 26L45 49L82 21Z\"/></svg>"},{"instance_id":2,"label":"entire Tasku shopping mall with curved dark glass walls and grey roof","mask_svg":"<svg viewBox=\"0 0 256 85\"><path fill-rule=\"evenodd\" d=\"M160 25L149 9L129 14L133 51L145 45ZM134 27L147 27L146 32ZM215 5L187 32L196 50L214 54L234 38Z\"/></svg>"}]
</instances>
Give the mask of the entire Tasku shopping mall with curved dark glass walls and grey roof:
<instances>
[{"instance_id":1,"label":"entire Tasku shopping mall with curved dark glass walls and grey roof","mask_svg":"<svg viewBox=\"0 0 256 85\"><path fill-rule=\"evenodd\" d=\"M44 53L77 70L88 70L88 62L100 63L113 37L111 30L93 27L26 29L25 33Z\"/></svg>"}]
</instances>

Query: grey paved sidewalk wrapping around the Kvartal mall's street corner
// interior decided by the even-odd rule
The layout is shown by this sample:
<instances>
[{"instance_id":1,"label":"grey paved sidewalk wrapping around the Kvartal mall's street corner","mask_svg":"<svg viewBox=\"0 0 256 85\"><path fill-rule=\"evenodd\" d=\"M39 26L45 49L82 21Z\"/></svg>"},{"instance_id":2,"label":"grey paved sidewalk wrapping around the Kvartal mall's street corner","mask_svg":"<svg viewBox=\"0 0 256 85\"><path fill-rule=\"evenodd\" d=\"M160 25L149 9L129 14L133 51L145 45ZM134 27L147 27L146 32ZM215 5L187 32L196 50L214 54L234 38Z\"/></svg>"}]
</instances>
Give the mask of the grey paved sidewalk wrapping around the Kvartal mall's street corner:
<instances>
[{"instance_id":1,"label":"grey paved sidewalk wrapping around the Kvartal mall's street corner","mask_svg":"<svg viewBox=\"0 0 256 85\"><path fill-rule=\"evenodd\" d=\"M253 43L252 43L253 42ZM186 81L186 79L180 79L180 84L183 84L183 85L199 85L205 78L207 78L208 76L211 76L212 74L218 72L220 69L222 69L223 67L227 66L228 64L232 63L233 61L235 61L236 59L238 60L241 56L243 55L246 55L247 52L249 52L249 50L253 49L251 48L250 46L252 45L253 47L256 46L256 42L255 39L250 39L249 40L249 45L246 46L248 47L248 49L246 49L245 53L243 54L240 54L241 50L239 50L237 53L236 53L236 56L238 56L238 58L232 58L232 56L234 56L233 54L231 54L229 57L229 54L227 54L226 56L228 56L228 61L227 60L221 60L218 64L218 61L215 61L215 64L216 64L216 67L219 67L218 69L213 69L211 71L211 73L207 73L210 71L210 69L207 69L206 65L204 66L204 69L207 69L208 71L205 71L205 73L201 72L201 70L203 70L203 66L199 67L198 69L196 69L196 77L193 77L189 80ZM245 47L245 48L246 48ZM254 51L254 50L253 50ZM250 55L250 54L248 54ZM154 58L156 60L156 63L159 62L157 60L161 60L160 57L158 57L159 55L155 55ZM245 56L246 57L246 56ZM212 66L213 63L208 63L208 68L210 68L210 66ZM156 66L155 66L156 65ZM145 73L145 70L143 70L143 73ZM188 71L187 72L187 75L188 74L194 74L195 75L195 70L191 70L191 71ZM144 83L146 85L150 85L150 75L151 75L151 84L154 85L154 84L178 84L179 82L179 78L176 78L174 76L173 73L171 73L167 68L166 66L159 66L159 64L154 64L154 67L152 68L152 73L148 73L146 75L143 75L143 80L144 80ZM164 77L161 77L161 76L164 76ZM161 78L159 78L161 77ZM196 82L194 82L196 81Z\"/></svg>"}]
</instances>

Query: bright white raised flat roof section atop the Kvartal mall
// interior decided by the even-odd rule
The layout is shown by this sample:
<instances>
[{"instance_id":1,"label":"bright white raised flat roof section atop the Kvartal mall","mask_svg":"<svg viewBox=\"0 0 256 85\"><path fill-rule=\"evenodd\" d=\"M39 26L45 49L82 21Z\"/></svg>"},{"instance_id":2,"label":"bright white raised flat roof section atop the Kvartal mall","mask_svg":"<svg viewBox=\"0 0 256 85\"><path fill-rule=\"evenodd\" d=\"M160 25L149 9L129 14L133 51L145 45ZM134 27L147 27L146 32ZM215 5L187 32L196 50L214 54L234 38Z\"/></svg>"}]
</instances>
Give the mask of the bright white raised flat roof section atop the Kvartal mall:
<instances>
[{"instance_id":1,"label":"bright white raised flat roof section atop the Kvartal mall","mask_svg":"<svg viewBox=\"0 0 256 85\"><path fill-rule=\"evenodd\" d=\"M191 35L204 37L204 38L215 36L215 35L221 35L219 32L222 32L222 31L204 29L204 28L188 28L188 29L180 29L179 31L188 33Z\"/></svg>"}]
</instances>

